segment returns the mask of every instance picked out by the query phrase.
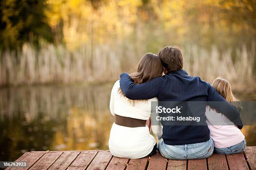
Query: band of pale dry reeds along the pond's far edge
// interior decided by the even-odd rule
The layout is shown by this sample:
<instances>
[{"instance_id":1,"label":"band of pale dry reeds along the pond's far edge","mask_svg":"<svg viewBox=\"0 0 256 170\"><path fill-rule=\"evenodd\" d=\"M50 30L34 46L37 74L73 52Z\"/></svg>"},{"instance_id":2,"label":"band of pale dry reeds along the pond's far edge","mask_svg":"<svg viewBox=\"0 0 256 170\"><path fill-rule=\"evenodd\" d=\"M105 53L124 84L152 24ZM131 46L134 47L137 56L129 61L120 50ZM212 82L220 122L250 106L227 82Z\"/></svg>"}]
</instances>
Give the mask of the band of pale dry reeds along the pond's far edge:
<instances>
[{"instance_id":1,"label":"band of pale dry reeds along the pond's far edge","mask_svg":"<svg viewBox=\"0 0 256 170\"><path fill-rule=\"evenodd\" d=\"M117 80L121 72L135 68L146 53L146 47L136 45L118 42L114 47L107 44L92 47L84 44L71 52L62 45L46 44L37 50L31 44L24 44L18 57L13 51L1 53L0 86ZM212 50L196 45L182 49L184 69L190 75L199 75L210 82L222 76L236 85L254 82L255 43L250 51L243 45L241 49L227 49L221 54L214 46Z\"/></svg>"}]
</instances>

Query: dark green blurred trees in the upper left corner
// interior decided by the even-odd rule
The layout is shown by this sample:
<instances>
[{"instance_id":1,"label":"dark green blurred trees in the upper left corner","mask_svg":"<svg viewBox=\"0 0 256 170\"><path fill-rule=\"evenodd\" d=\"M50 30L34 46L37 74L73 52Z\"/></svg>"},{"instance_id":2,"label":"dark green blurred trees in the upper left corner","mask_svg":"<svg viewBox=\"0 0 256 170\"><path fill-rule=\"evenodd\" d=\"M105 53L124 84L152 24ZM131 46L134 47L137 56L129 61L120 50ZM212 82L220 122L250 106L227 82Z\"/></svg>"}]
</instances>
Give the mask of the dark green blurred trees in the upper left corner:
<instances>
[{"instance_id":1,"label":"dark green blurred trees in the upper left corner","mask_svg":"<svg viewBox=\"0 0 256 170\"><path fill-rule=\"evenodd\" d=\"M0 46L16 48L24 42L38 44L43 38L53 42L53 33L47 23L44 0L2 0L0 2Z\"/></svg>"}]
</instances>

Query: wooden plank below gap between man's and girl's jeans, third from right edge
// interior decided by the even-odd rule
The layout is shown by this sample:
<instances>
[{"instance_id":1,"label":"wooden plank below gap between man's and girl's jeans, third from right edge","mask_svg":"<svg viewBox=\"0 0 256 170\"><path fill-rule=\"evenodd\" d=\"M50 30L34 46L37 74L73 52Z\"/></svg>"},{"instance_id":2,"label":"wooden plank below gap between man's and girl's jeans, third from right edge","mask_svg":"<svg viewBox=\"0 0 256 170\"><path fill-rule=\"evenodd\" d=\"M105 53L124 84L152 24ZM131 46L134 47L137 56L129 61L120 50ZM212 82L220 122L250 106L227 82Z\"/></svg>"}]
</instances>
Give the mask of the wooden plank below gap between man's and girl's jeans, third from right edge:
<instances>
[{"instance_id":1,"label":"wooden plank below gap between man's and girl's jeans, third from right edge","mask_svg":"<svg viewBox=\"0 0 256 170\"><path fill-rule=\"evenodd\" d=\"M207 160L209 170L228 170L228 163L225 155L213 153Z\"/></svg>"}]
</instances>

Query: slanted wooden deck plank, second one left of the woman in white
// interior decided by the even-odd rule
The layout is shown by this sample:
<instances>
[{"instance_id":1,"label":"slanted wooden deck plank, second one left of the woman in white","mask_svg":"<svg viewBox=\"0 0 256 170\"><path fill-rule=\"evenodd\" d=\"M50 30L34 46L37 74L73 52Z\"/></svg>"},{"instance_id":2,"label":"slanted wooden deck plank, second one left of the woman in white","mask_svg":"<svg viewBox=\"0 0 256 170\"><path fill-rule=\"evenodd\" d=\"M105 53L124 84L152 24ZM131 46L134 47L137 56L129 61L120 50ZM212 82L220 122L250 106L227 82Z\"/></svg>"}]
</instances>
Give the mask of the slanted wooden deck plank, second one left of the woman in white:
<instances>
[{"instance_id":1,"label":"slanted wooden deck plank, second one left of the woman in white","mask_svg":"<svg viewBox=\"0 0 256 170\"><path fill-rule=\"evenodd\" d=\"M85 170L96 154L96 150L81 152L67 170Z\"/></svg>"}]
</instances>

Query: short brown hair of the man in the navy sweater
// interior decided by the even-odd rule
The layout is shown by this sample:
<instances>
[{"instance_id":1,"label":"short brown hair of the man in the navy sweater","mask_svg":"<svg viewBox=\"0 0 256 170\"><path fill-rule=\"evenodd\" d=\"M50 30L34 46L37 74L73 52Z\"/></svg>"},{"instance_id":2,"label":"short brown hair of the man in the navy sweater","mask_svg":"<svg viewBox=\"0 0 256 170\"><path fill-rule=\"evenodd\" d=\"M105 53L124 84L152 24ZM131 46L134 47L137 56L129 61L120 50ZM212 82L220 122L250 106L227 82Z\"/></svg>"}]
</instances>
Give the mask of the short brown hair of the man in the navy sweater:
<instances>
[{"instance_id":1,"label":"short brown hair of the man in the navy sweater","mask_svg":"<svg viewBox=\"0 0 256 170\"><path fill-rule=\"evenodd\" d=\"M177 71L183 68L182 52L179 47L167 46L158 52L158 56L166 71Z\"/></svg>"}]
</instances>

